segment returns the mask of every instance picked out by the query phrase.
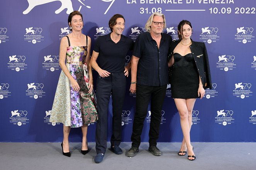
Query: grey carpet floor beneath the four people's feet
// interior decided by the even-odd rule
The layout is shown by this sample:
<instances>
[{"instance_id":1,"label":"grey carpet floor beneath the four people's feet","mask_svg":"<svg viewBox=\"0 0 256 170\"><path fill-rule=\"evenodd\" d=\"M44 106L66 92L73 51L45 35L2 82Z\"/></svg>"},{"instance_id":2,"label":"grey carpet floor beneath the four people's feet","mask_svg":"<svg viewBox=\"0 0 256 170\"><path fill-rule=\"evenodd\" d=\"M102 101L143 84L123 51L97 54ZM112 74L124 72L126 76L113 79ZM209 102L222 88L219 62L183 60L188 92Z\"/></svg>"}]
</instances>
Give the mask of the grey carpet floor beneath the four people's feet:
<instances>
[{"instance_id":1,"label":"grey carpet floor beneath the four people's feet","mask_svg":"<svg viewBox=\"0 0 256 170\"><path fill-rule=\"evenodd\" d=\"M126 157L130 142L120 144L122 155L107 149L103 162L94 163L95 143L82 155L81 143L70 143L71 157L62 155L61 143L0 143L1 170L255 170L256 143L193 142L195 161L178 156L181 143L158 143L163 152L153 156L141 143L135 157ZM110 143L108 143L110 147Z\"/></svg>"}]
</instances>

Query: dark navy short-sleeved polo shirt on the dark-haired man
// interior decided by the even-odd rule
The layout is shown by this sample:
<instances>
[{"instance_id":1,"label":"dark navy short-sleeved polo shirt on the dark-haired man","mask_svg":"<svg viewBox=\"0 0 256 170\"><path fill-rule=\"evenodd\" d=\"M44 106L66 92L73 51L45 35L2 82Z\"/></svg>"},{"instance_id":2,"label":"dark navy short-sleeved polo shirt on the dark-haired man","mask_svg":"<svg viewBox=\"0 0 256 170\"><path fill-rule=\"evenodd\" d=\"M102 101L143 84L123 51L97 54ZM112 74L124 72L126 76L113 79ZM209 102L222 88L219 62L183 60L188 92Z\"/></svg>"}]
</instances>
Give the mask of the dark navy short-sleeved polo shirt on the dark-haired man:
<instances>
[{"instance_id":1,"label":"dark navy short-sleeved polo shirt on the dark-haired man","mask_svg":"<svg viewBox=\"0 0 256 170\"><path fill-rule=\"evenodd\" d=\"M99 53L98 66L110 73L124 72L126 54L133 45L132 39L124 35L117 43L111 40L110 33L98 37L94 46L94 51Z\"/></svg>"}]
</instances>

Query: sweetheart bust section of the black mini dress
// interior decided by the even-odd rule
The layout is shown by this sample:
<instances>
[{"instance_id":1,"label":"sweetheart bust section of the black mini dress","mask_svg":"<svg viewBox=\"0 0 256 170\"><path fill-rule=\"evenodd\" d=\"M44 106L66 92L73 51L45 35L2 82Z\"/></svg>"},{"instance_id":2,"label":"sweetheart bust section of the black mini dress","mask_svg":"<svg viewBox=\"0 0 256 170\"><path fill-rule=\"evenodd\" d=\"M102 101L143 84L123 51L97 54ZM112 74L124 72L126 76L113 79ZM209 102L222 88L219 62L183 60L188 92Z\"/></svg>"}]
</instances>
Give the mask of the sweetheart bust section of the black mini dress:
<instances>
[{"instance_id":1,"label":"sweetheart bust section of the black mini dress","mask_svg":"<svg viewBox=\"0 0 256 170\"><path fill-rule=\"evenodd\" d=\"M192 53L188 53L184 56L180 55L179 53L173 54L174 58L174 67L195 67L195 61L193 58Z\"/></svg>"}]
</instances>

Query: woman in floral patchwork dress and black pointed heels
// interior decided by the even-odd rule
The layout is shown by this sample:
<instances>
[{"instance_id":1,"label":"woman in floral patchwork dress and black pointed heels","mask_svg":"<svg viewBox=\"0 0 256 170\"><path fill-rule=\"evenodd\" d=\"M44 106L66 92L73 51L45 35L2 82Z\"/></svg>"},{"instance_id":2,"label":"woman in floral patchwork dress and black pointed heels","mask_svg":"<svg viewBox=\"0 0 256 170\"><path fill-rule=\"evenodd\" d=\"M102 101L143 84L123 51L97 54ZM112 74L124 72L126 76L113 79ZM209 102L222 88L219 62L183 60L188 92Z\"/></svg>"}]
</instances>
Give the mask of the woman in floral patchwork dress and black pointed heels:
<instances>
[{"instance_id":1,"label":"woman in floral patchwork dress and black pointed heels","mask_svg":"<svg viewBox=\"0 0 256 170\"><path fill-rule=\"evenodd\" d=\"M83 16L71 12L68 17L71 33L60 44L59 76L50 122L63 123L63 155L70 157L68 135L70 129L81 127L83 133L81 153L88 152L87 125L98 120L96 98L93 92L90 63L91 38L82 34ZM66 64L65 64L66 60Z\"/></svg>"}]
</instances>

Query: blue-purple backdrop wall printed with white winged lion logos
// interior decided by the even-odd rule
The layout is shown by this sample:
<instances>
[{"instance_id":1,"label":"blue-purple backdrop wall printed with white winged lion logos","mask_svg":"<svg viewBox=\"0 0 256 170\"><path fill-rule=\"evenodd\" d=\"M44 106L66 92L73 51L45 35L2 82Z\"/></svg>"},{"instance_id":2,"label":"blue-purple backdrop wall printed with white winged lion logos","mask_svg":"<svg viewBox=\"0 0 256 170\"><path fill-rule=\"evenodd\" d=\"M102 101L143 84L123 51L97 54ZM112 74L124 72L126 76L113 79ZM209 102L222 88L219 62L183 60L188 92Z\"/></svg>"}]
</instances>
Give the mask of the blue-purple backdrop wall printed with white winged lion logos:
<instances>
[{"instance_id":1,"label":"blue-purple backdrop wall printed with white winged lion logos","mask_svg":"<svg viewBox=\"0 0 256 170\"><path fill-rule=\"evenodd\" d=\"M213 89L197 99L192 112L192 142L256 142L256 1L253 0L8 0L0 5L0 142L61 142L63 124L49 117L61 68L59 44L70 33L68 14L83 14L83 33L95 40L110 33L110 17L125 17L123 32L132 40L145 32L153 12L166 16L164 32L178 39L177 25L192 23L192 39L207 47ZM109 49L111 50L111 49ZM131 59L127 54L127 63ZM127 64L126 63L126 64ZM93 70L94 79L97 72ZM122 141L132 133L136 95L129 93L122 113ZM94 87L96 81L94 81ZM95 89L97 93L97 89ZM109 133L112 131L112 100ZM142 142L148 141L150 105ZM95 141L96 123L88 126ZM181 142L180 117L168 85L159 142ZM81 141L72 128L71 142Z\"/></svg>"}]
</instances>

